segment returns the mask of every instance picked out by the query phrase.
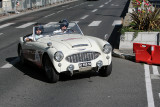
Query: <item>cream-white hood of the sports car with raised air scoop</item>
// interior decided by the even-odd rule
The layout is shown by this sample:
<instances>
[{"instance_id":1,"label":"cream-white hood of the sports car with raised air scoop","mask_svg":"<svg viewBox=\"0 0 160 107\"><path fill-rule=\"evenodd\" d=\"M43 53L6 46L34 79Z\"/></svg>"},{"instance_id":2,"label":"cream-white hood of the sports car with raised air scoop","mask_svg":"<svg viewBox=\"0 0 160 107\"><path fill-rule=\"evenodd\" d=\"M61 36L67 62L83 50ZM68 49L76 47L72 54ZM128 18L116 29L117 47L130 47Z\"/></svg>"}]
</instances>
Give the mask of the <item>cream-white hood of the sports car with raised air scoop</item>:
<instances>
[{"instance_id":1,"label":"cream-white hood of the sports car with raised air scoop","mask_svg":"<svg viewBox=\"0 0 160 107\"><path fill-rule=\"evenodd\" d=\"M49 37L42 42L52 42L55 48L69 48L69 49L82 49L92 47L91 41L82 35L58 35Z\"/></svg>"}]
</instances>

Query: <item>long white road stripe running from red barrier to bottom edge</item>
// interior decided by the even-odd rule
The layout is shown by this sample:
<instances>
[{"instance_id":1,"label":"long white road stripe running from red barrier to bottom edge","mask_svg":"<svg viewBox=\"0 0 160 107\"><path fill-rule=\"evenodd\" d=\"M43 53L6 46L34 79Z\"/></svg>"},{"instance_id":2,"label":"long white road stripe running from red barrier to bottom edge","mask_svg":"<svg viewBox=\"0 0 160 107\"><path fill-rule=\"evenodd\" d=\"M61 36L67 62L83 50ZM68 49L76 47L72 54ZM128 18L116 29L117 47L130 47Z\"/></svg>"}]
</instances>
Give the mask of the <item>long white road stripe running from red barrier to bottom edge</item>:
<instances>
[{"instance_id":1,"label":"long white road stripe running from red barrier to bottom edge","mask_svg":"<svg viewBox=\"0 0 160 107\"><path fill-rule=\"evenodd\" d=\"M149 65L144 64L148 107L155 107Z\"/></svg>"}]
</instances>

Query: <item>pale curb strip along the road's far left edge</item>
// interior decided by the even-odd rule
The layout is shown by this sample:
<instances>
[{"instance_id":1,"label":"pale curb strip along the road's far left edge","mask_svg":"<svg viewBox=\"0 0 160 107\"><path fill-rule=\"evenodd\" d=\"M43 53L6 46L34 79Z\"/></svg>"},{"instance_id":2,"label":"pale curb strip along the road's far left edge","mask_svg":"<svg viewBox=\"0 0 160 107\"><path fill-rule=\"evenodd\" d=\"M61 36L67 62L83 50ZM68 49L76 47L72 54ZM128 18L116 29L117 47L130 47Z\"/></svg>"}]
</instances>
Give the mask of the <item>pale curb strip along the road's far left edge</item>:
<instances>
[{"instance_id":1,"label":"pale curb strip along the road's far left edge","mask_svg":"<svg viewBox=\"0 0 160 107\"><path fill-rule=\"evenodd\" d=\"M78 0L67 0L67 1L64 1L64 2L52 4L51 6L41 7L41 8L38 8L38 9L33 9L33 10L26 11L26 12L24 11L24 12L19 13L19 14L4 16L4 17L0 18L0 22L8 20L8 19L16 18L16 17L22 16L22 15L27 15L29 13L33 13L33 12L49 9L49 8L52 8L52 7L60 6L60 5L63 5L63 4L72 3L72 2L75 2L75 1L78 1Z\"/></svg>"}]
</instances>

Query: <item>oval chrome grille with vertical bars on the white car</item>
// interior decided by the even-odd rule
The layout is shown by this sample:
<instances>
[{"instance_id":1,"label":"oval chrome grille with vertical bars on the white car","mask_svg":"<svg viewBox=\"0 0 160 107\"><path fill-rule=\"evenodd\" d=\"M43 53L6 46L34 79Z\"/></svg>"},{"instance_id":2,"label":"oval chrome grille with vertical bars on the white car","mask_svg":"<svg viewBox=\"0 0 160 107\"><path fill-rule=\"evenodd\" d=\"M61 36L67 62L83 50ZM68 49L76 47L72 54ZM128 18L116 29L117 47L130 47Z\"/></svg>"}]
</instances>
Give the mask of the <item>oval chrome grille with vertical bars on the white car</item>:
<instances>
[{"instance_id":1,"label":"oval chrome grille with vertical bars on the white car","mask_svg":"<svg viewBox=\"0 0 160 107\"><path fill-rule=\"evenodd\" d=\"M85 62L91 61L100 55L99 52L83 52L83 53L76 53L66 57L66 60L70 63L78 63L78 62Z\"/></svg>"}]
</instances>

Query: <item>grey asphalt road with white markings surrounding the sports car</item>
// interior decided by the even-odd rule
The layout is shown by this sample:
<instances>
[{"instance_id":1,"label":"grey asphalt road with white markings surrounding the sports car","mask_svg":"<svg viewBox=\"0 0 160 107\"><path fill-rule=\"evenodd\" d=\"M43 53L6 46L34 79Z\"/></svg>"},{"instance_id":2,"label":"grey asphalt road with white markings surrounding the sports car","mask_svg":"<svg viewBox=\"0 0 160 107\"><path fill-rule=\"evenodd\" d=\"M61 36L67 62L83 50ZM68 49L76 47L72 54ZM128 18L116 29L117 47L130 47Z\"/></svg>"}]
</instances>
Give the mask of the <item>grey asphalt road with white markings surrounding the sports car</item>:
<instances>
[{"instance_id":1,"label":"grey asphalt road with white markings surrounding the sports car","mask_svg":"<svg viewBox=\"0 0 160 107\"><path fill-rule=\"evenodd\" d=\"M109 77L97 73L60 76L46 82L33 65L21 66L17 58L20 36L32 32L32 24L66 18L78 22L85 35L103 38L119 24L127 0L79 0L0 22L1 107L159 107L160 67L113 57ZM90 26L93 21L96 24Z\"/></svg>"}]
</instances>

